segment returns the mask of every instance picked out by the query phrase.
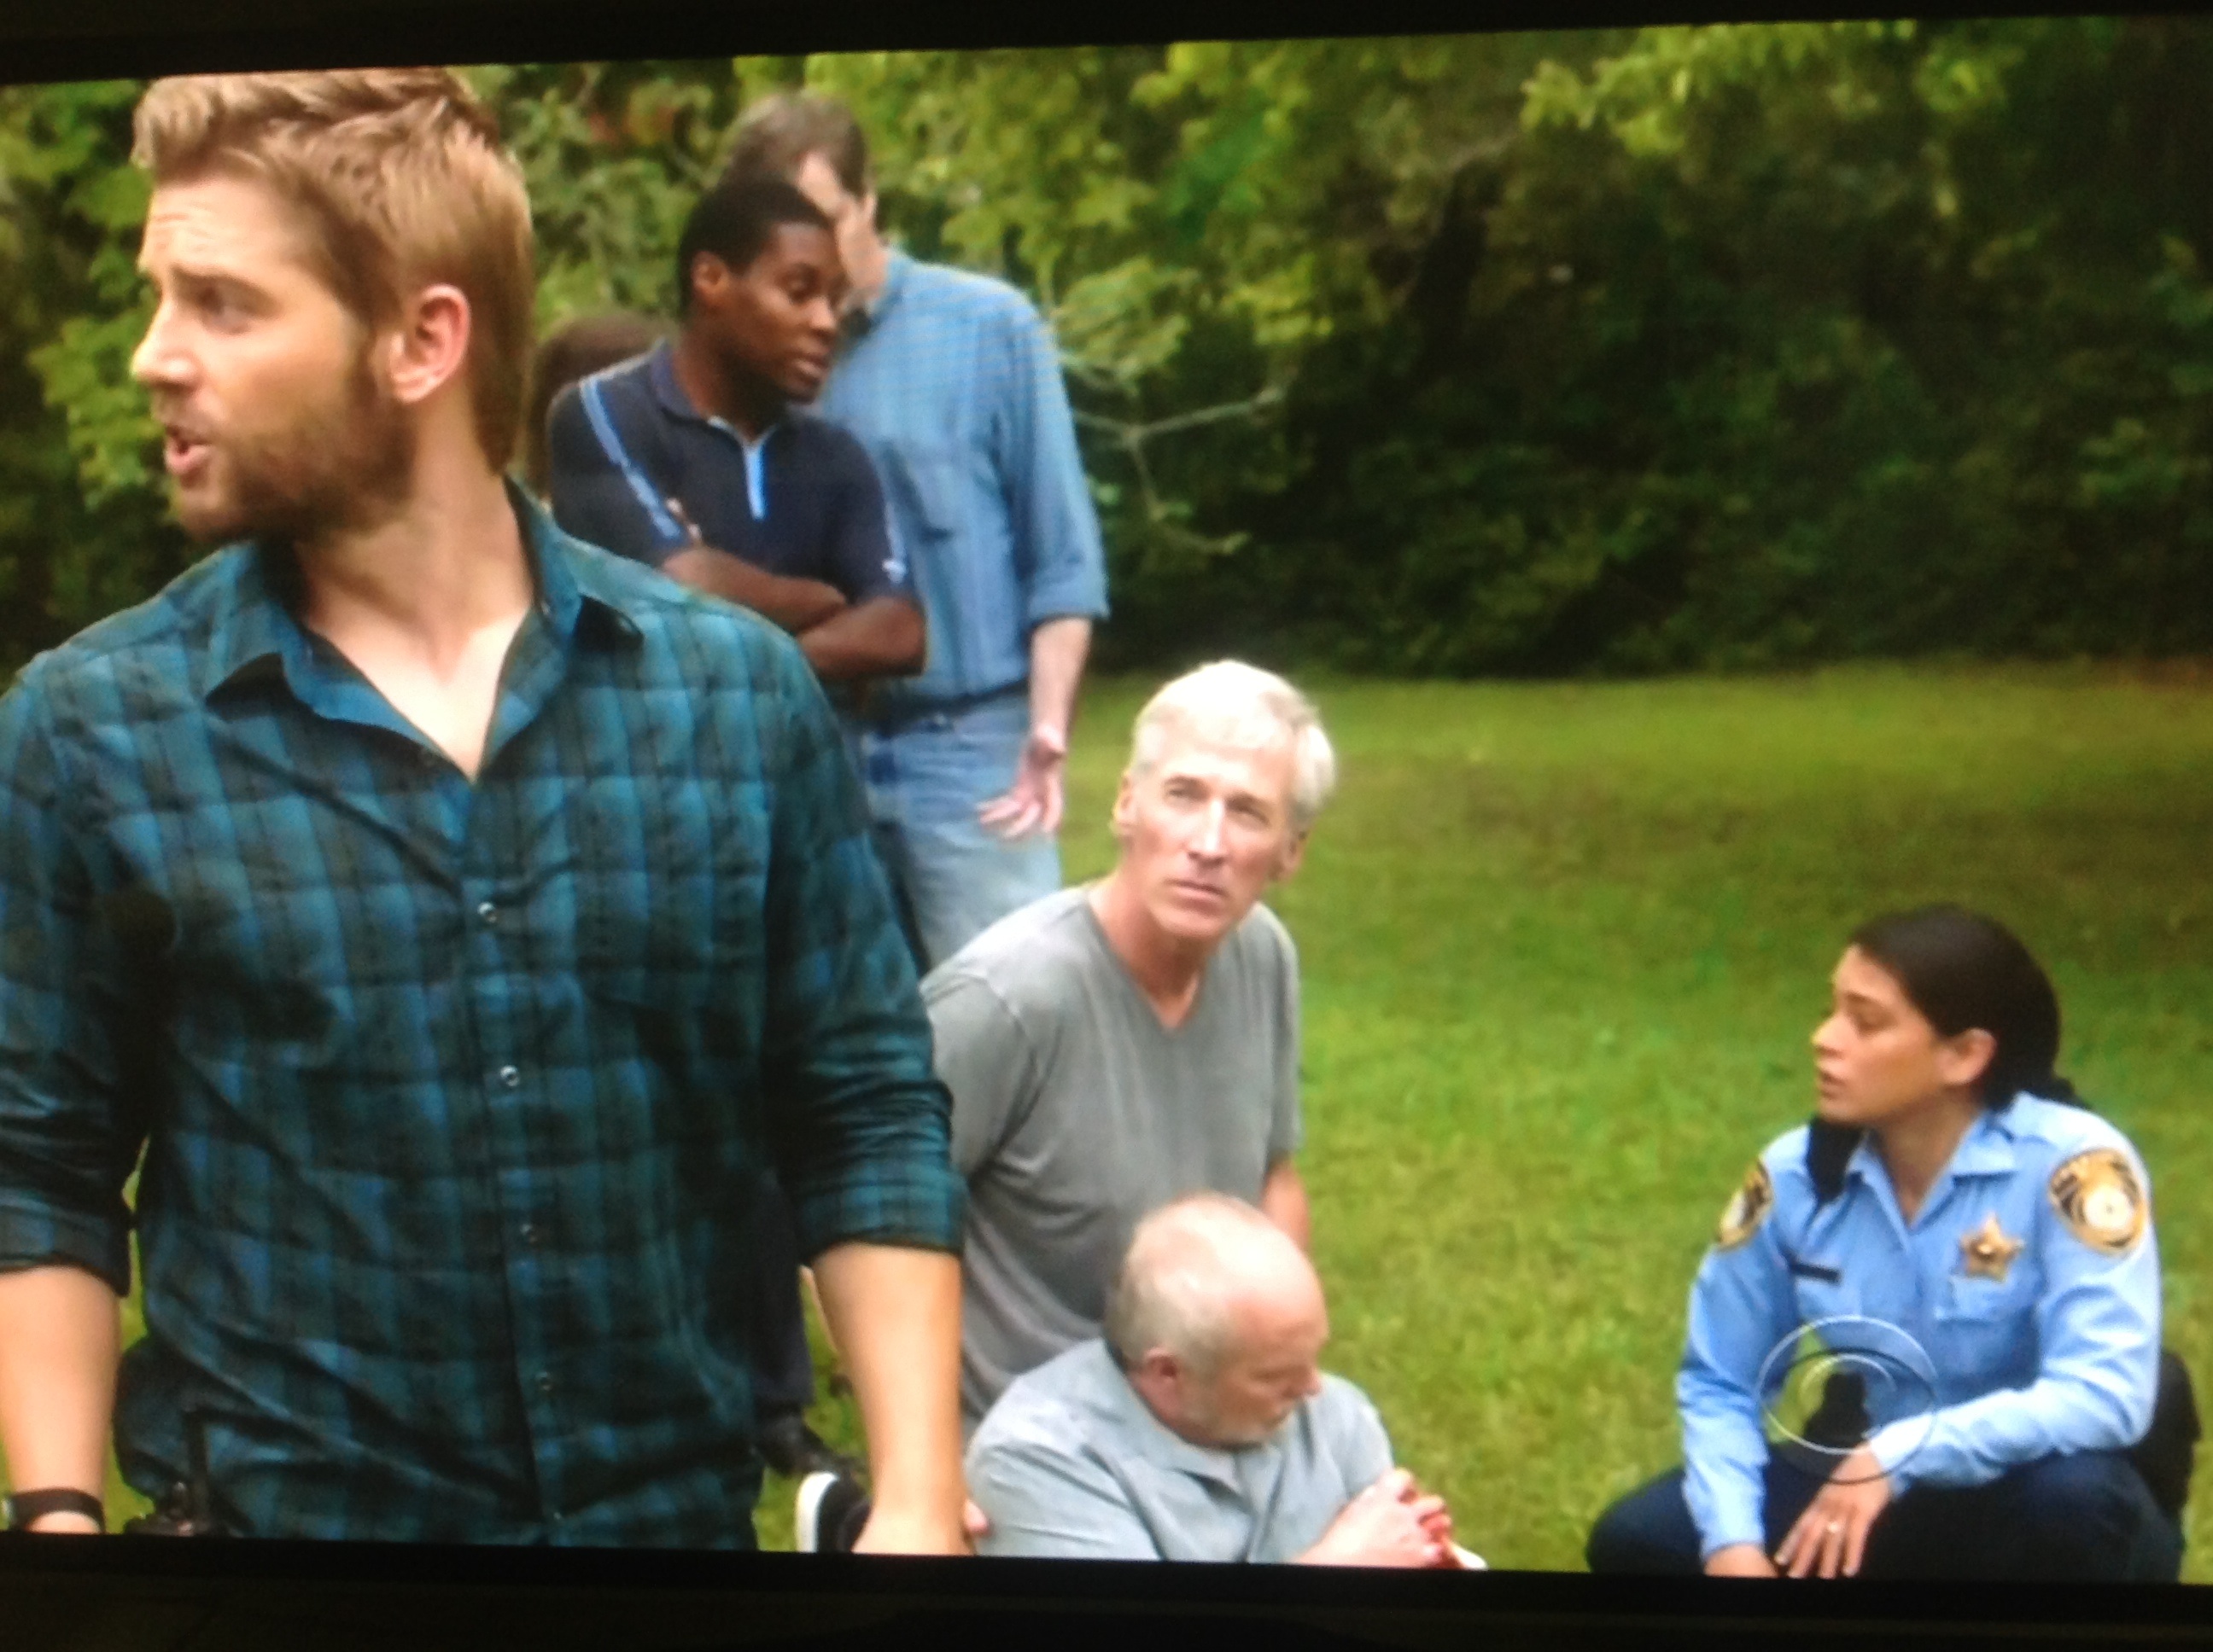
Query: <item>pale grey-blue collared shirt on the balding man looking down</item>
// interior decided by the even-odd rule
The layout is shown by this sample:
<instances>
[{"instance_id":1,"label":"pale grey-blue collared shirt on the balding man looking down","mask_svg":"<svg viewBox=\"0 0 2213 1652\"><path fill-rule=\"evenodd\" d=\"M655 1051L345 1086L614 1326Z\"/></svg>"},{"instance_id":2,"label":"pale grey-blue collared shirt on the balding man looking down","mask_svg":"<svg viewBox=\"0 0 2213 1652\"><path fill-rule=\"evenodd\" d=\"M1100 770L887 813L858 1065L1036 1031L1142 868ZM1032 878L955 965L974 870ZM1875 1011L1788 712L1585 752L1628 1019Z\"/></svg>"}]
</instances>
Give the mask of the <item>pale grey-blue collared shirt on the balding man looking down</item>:
<instances>
[{"instance_id":1,"label":"pale grey-blue collared shirt on the balding man looking down","mask_svg":"<svg viewBox=\"0 0 2213 1652\"><path fill-rule=\"evenodd\" d=\"M1288 1561L1390 1473L1383 1420L1343 1378L1257 1446L1168 1431L1098 1338L1016 1378L967 1451L980 1555Z\"/></svg>"}]
</instances>

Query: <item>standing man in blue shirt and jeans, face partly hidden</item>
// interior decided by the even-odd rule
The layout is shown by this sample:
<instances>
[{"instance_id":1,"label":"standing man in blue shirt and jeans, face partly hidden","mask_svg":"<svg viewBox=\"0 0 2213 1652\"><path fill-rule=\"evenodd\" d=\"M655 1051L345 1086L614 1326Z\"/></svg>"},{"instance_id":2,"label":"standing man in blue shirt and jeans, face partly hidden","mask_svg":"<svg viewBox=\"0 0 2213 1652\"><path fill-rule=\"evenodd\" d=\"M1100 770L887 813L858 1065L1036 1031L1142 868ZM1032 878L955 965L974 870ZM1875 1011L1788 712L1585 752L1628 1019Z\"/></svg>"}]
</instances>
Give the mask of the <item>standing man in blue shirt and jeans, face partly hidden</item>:
<instances>
[{"instance_id":1,"label":"standing man in blue shirt and jeans, face partly hidden","mask_svg":"<svg viewBox=\"0 0 2213 1652\"><path fill-rule=\"evenodd\" d=\"M867 144L841 104L763 100L728 175L806 190L852 283L821 411L876 462L929 624L923 672L881 692L854 739L879 849L934 966L1060 887L1069 717L1106 615L1060 358L1005 283L885 245Z\"/></svg>"}]
</instances>

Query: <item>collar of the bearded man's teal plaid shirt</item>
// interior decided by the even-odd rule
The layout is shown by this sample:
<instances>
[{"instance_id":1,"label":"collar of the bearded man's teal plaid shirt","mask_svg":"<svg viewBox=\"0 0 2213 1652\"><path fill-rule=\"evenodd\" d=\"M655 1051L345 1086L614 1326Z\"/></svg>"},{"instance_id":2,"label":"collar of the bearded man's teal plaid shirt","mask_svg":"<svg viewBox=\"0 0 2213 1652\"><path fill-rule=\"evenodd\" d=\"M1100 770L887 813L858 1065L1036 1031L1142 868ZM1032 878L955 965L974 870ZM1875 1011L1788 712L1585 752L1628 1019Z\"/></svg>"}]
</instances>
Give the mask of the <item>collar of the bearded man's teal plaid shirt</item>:
<instances>
[{"instance_id":1,"label":"collar of the bearded man's teal plaid shirt","mask_svg":"<svg viewBox=\"0 0 2213 1652\"><path fill-rule=\"evenodd\" d=\"M635 644L637 619L628 599L593 564L591 555L562 533L553 517L513 480L507 500L522 529L522 553L531 560L538 615L560 639ZM248 675L277 670L292 679L312 670L310 641L299 624L299 562L288 544L248 540L239 546L230 599L217 610L199 663L199 697Z\"/></svg>"}]
</instances>

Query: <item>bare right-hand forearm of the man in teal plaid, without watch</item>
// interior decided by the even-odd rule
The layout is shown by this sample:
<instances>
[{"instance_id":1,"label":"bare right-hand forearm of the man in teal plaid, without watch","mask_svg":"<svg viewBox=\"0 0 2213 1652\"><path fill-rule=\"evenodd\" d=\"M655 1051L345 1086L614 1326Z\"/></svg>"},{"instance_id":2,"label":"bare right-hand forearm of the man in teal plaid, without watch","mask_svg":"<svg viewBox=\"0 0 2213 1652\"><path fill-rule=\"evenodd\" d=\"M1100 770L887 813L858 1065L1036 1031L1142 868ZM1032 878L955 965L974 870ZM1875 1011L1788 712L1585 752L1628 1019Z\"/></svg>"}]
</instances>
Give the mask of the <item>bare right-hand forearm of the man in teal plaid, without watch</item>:
<instances>
[{"instance_id":1,"label":"bare right-hand forearm of the man in teal plaid, without watch","mask_svg":"<svg viewBox=\"0 0 2213 1652\"><path fill-rule=\"evenodd\" d=\"M960 1258L845 1243L814 1258L845 1360L885 1548L960 1552ZM874 1546L874 1544L872 1544Z\"/></svg>"}]
</instances>

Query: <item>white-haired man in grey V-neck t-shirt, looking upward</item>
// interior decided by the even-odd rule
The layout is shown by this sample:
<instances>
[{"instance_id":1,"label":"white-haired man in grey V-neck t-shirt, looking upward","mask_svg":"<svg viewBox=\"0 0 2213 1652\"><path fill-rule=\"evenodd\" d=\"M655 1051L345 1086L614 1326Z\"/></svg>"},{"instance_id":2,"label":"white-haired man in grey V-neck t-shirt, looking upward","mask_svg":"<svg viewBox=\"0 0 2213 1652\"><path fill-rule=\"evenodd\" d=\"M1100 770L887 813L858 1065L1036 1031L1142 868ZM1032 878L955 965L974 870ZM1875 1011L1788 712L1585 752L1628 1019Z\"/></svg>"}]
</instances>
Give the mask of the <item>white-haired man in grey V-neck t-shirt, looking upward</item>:
<instances>
[{"instance_id":1,"label":"white-haired man in grey V-neck t-shirt, looking upward","mask_svg":"<svg viewBox=\"0 0 2213 1652\"><path fill-rule=\"evenodd\" d=\"M969 1183L960 1409L1098 1336L1137 1219L1255 1201L1306 1243L1299 958L1261 891L1334 783L1315 708L1219 661L1137 714L1115 869L1002 918L923 982Z\"/></svg>"}]
</instances>

